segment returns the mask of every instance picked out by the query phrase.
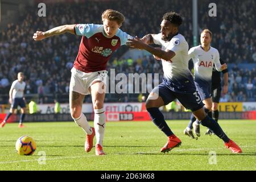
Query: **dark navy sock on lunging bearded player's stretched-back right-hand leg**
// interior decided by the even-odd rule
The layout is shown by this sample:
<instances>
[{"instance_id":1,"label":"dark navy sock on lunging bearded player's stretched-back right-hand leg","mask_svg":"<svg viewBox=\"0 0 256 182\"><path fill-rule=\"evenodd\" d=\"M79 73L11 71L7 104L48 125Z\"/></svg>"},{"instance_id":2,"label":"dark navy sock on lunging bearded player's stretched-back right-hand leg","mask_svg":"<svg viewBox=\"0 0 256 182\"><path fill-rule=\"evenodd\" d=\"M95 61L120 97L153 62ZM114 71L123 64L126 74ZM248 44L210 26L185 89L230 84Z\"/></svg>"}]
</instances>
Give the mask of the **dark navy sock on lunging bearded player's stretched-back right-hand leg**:
<instances>
[{"instance_id":1,"label":"dark navy sock on lunging bearded player's stretched-back right-hand leg","mask_svg":"<svg viewBox=\"0 0 256 182\"><path fill-rule=\"evenodd\" d=\"M218 123L210 118L208 115L201 121L203 126L208 127L210 130L214 132L219 138L224 140L224 142L229 142L228 136L224 133L224 131L221 129L220 125Z\"/></svg>"}]
</instances>

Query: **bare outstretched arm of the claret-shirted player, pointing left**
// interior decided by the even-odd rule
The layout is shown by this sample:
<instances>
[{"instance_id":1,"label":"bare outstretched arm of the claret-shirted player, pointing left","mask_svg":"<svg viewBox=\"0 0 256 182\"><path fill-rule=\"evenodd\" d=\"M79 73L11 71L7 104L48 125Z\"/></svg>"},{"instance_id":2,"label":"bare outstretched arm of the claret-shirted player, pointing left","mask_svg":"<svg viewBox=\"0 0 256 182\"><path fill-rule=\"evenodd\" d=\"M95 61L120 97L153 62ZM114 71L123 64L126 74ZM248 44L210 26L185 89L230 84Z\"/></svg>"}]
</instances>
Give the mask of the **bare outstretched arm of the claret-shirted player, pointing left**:
<instances>
[{"instance_id":1,"label":"bare outstretched arm of the claret-shirted player, pointing left","mask_svg":"<svg viewBox=\"0 0 256 182\"><path fill-rule=\"evenodd\" d=\"M36 31L35 34L33 35L33 39L43 40L50 36L65 34L67 32L71 34L75 34L74 27L75 27L75 24L65 24L63 26L52 28L51 30L48 30L46 32Z\"/></svg>"}]
</instances>

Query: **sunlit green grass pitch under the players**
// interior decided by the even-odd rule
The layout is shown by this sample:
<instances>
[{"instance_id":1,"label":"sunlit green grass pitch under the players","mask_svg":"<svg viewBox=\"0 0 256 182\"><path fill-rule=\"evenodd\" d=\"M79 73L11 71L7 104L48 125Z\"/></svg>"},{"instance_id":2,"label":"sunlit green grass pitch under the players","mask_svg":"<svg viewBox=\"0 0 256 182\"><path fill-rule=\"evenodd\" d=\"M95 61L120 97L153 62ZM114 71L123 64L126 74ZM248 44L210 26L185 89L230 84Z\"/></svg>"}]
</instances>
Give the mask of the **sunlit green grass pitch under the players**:
<instances>
[{"instance_id":1,"label":"sunlit green grass pitch under the players","mask_svg":"<svg viewBox=\"0 0 256 182\"><path fill-rule=\"evenodd\" d=\"M256 121L220 121L242 154L232 154L216 136L205 136L203 126L198 140L188 138L183 134L187 123L168 121L182 144L163 154L160 148L167 138L154 123L108 122L105 156L96 156L94 148L84 152L85 134L75 122L24 123L22 129L17 123L7 123L0 129L0 170L256 170ZM35 139L34 155L16 153L15 142L22 135ZM43 163L40 151L46 153L45 164L39 164Z\"/></svg>"}]
</instances>

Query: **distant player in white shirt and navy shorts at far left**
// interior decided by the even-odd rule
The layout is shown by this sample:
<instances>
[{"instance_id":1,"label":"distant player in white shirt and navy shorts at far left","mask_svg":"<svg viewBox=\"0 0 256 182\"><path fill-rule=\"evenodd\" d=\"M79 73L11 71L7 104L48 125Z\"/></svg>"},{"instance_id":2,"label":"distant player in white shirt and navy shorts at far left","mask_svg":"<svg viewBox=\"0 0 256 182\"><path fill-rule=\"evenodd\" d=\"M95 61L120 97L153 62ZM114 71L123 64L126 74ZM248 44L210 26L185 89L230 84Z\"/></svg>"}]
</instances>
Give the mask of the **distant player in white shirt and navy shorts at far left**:
<instances>
[{"instance_id":1,"label":"distant player in white shirt and navy shorts at far left","mask_svg":"<svg viewBox=\"0 0 256 182\"><path fill-rule=\"evenodd\" d=\"M20 106L20 119L19 119L19 127L23 126L23 121L26 114L26 101L24 98L24 89L26 87L26 83L23 81L24 75L22 72L18 73L18 80L15 80L11 85L11 89L9 92L9 102L11 104L10 112L6 115L5 119L1 123L0 127L4 127L7 119L10 118L11 114L14 113L15 109Z\"/></svg>"}]
</instances>

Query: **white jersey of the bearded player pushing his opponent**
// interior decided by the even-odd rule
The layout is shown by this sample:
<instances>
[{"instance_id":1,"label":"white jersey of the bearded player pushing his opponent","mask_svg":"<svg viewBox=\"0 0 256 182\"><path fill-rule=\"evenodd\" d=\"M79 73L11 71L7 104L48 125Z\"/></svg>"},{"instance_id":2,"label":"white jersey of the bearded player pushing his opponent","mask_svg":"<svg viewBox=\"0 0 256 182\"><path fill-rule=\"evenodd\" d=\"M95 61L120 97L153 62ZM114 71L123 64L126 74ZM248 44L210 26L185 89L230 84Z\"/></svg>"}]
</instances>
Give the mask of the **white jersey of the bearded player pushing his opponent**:
<instances>
[{"instance_id":1,"label":"white jersey of the bearded player pushing his opponent","mask_svg":"<svg viewBox=\"0 0 256 182\"><path fill-rule=\"evenodd\" d=\"M164 42L162 34L156 34L154 43L161 45L164 51L168 49L175 52L175 56L172 57L171 61L162 59L164 77L171 81L179 81L191 75L188 69L188 43L183 35L177 34L169 42Z\"/></svg>"}]
</instances>

